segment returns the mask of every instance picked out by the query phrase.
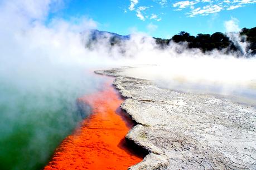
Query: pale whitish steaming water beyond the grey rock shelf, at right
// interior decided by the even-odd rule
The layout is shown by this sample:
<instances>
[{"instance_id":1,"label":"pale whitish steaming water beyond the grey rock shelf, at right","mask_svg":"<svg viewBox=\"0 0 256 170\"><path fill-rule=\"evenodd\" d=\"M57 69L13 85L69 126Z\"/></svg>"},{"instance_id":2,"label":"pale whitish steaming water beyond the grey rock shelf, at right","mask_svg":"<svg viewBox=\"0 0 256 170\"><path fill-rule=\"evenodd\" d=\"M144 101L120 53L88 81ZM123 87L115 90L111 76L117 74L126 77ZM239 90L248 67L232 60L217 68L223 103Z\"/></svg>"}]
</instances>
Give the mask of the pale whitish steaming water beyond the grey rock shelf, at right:
<instances>
[{"instance_id":1,"label":"pale whitish steaming water beyond the grey rock shelf, at right","mask_svg":"<svg viewBox=\"0 0 256 170\"><path fill-rule=\"evenodd\" d=\"M157 69L156 69L157 68ZM256 106L256 80L251 79L244 83L221 82L215 79L209 81L206 77L201 79L191 79L188 71L183 76L170 69L158 70L158 66L140 66L130 68L122 74L136 78L149 79L160 88L172 89L185 93L212 94L218 98L225 98L236 103ZM164 73L167 71L167 73ZM204 79L205 78L205 79Z\"/></svg>"}]
</instances>

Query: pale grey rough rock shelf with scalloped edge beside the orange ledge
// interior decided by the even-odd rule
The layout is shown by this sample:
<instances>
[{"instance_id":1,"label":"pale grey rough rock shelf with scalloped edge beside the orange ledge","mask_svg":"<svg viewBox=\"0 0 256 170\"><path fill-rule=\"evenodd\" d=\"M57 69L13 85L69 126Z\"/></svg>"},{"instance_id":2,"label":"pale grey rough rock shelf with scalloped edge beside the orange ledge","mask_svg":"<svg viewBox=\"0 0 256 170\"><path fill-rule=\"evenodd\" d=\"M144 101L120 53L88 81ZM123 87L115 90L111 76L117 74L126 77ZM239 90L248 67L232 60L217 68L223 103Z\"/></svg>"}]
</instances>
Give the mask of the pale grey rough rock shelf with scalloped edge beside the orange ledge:
<instances>
[{"instance_id":1,"label":"pale grey rough rock shelf with scalloped edge beside the orange ledge","mask_svg":"<svg viewBox=\"0 0 256 170\"><path fill-rule=\"evenodd\" d=\"M256 109L210 95L161 89L114 76L122 108L138 123L126 138L149 151L130 169L256 169Z\"/></svg>"}]
</instances>

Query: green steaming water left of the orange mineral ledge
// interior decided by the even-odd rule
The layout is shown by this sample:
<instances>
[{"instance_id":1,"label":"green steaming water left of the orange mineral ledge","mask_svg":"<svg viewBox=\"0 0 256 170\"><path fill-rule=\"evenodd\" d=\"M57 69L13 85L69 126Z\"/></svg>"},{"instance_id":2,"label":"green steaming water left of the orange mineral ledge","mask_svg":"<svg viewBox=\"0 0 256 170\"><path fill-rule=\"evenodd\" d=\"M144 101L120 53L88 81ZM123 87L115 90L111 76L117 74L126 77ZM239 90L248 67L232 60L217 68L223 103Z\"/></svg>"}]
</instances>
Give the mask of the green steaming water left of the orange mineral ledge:
<instances>
[{"instance_id":1,"label":"green steaming water left of the orange mineral ledge","mask_svg":"<svg viewBox=\"0 0 256 170\"><path fill-rule=\"evenodd\" d=\"M83 117L76 98L93 91L91 83L96 89L101 82L80 71L52 84L34 81L23 79L21 86L20 81L0 77L0 169L44 167Z\"/></svg>"}]
</instances>

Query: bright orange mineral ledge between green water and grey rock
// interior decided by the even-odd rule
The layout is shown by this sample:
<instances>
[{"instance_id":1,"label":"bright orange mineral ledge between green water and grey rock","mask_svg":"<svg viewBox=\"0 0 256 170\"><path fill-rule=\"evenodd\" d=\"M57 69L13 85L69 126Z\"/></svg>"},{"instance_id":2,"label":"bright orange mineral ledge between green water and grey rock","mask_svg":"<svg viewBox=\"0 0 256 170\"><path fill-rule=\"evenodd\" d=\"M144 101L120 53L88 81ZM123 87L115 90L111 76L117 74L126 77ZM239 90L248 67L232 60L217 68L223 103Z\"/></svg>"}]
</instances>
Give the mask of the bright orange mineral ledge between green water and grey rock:
<instances>
[{"instance_id":1,"label":"bright orange mineral ledge between green water and grey rock","mask_svg":"<svg viewBox=\"0 0 256 170\"><path fill-rule=\"evenodd\" d=\"M64 139L45 170L127 169L142 161L143 156L125 142L133 123L120 109L123 99L112 82L105 83L102 91L78 99L89 104L93 114Z\"/></svg>"}]
</instances>

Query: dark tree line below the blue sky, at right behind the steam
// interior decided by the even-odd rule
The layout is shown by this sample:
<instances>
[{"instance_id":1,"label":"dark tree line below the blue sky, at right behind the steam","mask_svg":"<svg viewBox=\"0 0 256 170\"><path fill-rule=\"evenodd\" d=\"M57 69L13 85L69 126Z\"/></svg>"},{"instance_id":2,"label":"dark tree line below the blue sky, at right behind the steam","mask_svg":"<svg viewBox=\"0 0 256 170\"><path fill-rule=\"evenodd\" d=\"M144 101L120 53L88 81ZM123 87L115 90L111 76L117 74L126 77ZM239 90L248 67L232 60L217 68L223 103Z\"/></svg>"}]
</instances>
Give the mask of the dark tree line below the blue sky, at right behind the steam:
<instances>
[{"instance_id":1,"label":"dark tree line below the blue sky, at right behind the steam","mask_svg":"<svg viewBox=\"0 0 256 170\"><path fill-rule=\"evenodd\" d=\"M246 51L250 54L256 54L256 27L241 29L239 36L241 42L248 42L249 46ZM165 48L171 41L175 43L187 42L188 48L199 48L202 52L209 52L213 49L223 50L225 52L240 52L240 48L230 38L221 32L215 32L213 34L197 34L197 36L191 36L190 33L181 31L174 35L171 39L154 38L156 43Z\"/></svg>"}]
</instances>

